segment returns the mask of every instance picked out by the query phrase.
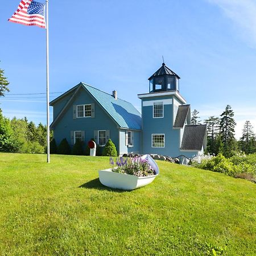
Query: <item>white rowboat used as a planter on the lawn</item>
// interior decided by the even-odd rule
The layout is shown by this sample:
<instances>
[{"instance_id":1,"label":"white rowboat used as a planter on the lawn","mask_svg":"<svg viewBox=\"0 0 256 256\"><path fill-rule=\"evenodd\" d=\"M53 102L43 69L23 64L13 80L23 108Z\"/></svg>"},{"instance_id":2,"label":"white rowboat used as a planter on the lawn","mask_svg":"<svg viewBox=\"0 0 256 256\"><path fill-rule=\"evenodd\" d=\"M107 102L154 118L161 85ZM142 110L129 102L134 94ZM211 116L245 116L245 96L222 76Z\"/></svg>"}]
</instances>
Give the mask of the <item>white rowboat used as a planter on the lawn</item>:
<instances>
[{"instance_id":1,"label":"white rowboat used as a planter on the lawn","mask_svg":"<svg viewBox=\"0 0 256 256\"><path fill-rule=\"evenodd\" d=\"M129 174L119 174L118 172L112 172L112 169L109 168L106 170L98 171L101 184L110 188L118 188L124 190L132 190L150 184L159 174L158 165L150 155L143 155L141 158L148 160L148 163L154 170L155 175L138 177Z\"/></svg>"}]
</instances>

